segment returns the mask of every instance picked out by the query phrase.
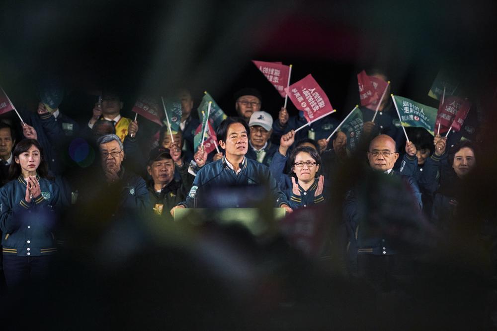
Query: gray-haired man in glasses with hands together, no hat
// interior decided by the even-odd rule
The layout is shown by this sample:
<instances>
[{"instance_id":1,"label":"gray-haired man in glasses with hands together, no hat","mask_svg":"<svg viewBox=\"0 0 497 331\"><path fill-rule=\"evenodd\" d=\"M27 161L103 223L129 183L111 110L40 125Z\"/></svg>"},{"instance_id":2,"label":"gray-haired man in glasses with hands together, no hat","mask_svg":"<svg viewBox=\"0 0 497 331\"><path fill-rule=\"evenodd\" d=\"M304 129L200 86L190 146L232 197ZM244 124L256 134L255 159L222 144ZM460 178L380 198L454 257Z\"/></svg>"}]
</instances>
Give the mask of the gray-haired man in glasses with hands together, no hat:
<instances>
[{"instance_id":1,"label":"gray-haired man in glasses with hands together, no hat","mask_svg":"<svg viewBox=\"0 0 497 331\"><path fill-rule=\"evenodd\" d=\"M107 185L120 192L119 208L138 208L135 211L145 212L150 205L147 184L122 166L124 150L121 139L115 134L106 134L97 140L97 144Z\"/></svg>"}]
</instances>

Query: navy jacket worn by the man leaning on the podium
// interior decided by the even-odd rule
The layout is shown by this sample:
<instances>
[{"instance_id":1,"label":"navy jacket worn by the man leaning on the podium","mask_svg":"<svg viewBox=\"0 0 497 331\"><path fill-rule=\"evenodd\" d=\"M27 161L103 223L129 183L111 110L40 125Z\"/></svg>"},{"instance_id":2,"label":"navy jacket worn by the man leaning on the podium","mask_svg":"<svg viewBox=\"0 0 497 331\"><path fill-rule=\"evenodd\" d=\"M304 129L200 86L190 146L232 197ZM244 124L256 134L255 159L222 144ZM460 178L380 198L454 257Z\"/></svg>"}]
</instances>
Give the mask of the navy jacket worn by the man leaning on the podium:
<instances>
[{"instance_id":1,"label":"navy jacket worn by the man leaning on the podium","mask_svg":"<svg viewBox=\"0 0 497 331\"><path fill-rule=\"evenodd\" d=\"M268 167L247 157L244 158L242 163L242 171L238 175L228 167L226 156L206 164L197 173L186 200L179 204L187 208L193 208L195 206L195 199L199 195L197 194L197 190L202 193L202 191L207 191L215 187L248 186L257 185L257 183L268 183L271 193L275 197L275 206L280 207L282 204L290 205L283 192L278 189L278 185ZM200 199L204 199L201 193Z\"/></svg>"}]
</instances>

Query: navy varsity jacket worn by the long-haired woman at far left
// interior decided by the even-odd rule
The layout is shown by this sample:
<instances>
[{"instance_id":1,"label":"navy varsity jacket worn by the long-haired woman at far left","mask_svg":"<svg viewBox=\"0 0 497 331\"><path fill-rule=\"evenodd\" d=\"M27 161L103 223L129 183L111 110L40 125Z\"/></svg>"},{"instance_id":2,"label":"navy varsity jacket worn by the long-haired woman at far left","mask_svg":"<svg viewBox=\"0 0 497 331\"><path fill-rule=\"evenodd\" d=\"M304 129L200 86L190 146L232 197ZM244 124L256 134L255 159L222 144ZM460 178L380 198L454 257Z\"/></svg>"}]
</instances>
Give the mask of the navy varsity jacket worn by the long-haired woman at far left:
<instances>
[{"instance_id":1,"label":"navy varsity jacket worn by the long-haired woman at far left","mask_svg":"<svg viewBox=\"0 0 497 331\"><path fill-rule=\"evenodd\" d=\"M37 176L41 195L26 202L26 182L19 178L0 189L0 228L3 254L43 256L57 251L54 228L59 187Z\"/></svg>"}]
</instances>

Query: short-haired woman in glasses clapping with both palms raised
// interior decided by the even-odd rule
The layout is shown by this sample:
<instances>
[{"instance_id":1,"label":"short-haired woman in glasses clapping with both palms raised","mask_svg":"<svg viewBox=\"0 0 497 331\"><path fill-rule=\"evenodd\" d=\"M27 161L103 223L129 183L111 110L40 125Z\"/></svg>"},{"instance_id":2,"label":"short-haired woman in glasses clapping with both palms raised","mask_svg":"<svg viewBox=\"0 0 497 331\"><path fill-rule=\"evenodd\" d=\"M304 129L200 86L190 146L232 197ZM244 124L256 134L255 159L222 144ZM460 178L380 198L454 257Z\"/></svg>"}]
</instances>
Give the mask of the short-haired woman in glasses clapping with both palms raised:
<instances>
[{"instance_id":1,"label":"short-haired woman in glasses clapping with both palms raised","mask_svg":"<svg viewBox=\"0 0 497 331\"><path fill-rule=\"evenodd\" d=\"M318 151L312 147L297 147L290 154L291 186L285 192L292 209L308 207L325 201L324 176L316 177L321 165ZM288 183L288 181L285 181Z\"/></svg>"}]
</instances>

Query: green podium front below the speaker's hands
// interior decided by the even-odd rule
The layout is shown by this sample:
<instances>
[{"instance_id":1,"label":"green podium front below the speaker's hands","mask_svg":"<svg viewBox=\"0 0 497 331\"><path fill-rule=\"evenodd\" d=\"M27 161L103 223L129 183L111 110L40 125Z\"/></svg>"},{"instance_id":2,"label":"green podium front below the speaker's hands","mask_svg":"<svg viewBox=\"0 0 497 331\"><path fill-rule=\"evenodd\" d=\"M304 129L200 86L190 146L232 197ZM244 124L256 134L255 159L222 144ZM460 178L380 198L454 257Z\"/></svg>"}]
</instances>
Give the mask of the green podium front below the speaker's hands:
<instances>
[{"instance_id":1,"label":"green podium front below the speaker's hands","mask_svg":"<svg viewBox=\"0 0 497 331\"><path fill-rule=\"evenodd\" d=\"M220 224L238 223L252 234L260 235L285 215L284 208L177 208L174 210L174 221L192 224L205 220Z\"/></svg>"}]
</instances>

